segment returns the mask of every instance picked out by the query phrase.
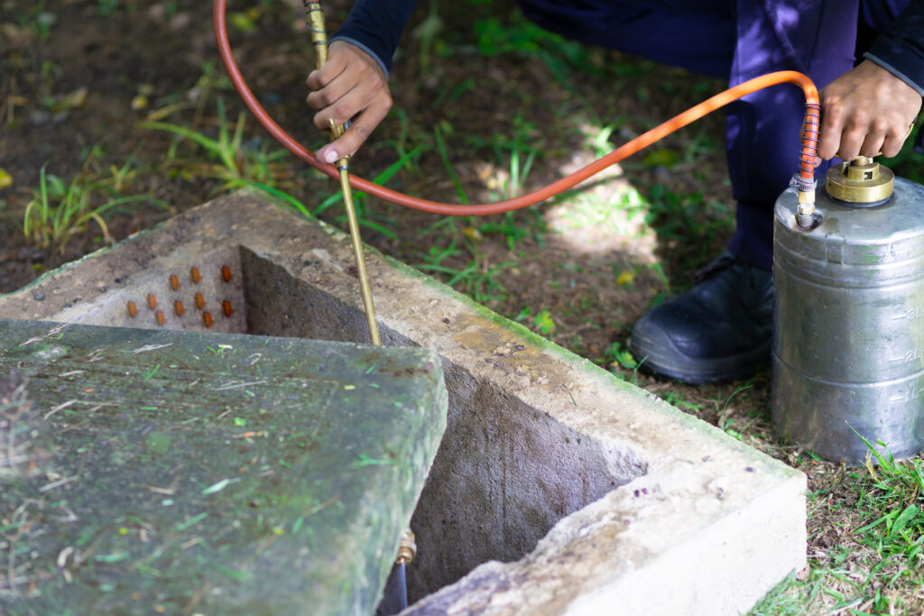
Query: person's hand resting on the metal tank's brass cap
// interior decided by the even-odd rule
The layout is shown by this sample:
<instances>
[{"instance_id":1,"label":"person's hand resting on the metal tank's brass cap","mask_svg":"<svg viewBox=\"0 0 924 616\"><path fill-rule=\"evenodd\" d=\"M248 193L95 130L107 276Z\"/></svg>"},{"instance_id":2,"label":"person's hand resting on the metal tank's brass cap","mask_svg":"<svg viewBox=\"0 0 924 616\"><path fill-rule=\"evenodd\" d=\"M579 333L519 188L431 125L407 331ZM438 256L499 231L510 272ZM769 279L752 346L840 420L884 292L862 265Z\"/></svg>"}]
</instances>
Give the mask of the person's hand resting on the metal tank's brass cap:
<instances>
[{"instance_id":1,"label":"person's hand resting on the metal tank's brass cap","mask_svg":"<svg viewBox=\"0 0 924 616\"><path fill-rule=\"evenodd\" d=\"M859 155L894 156L918 117L921 96L870 60L821 90L818 155L852 161Z\"/></svg>"}]
</instances>

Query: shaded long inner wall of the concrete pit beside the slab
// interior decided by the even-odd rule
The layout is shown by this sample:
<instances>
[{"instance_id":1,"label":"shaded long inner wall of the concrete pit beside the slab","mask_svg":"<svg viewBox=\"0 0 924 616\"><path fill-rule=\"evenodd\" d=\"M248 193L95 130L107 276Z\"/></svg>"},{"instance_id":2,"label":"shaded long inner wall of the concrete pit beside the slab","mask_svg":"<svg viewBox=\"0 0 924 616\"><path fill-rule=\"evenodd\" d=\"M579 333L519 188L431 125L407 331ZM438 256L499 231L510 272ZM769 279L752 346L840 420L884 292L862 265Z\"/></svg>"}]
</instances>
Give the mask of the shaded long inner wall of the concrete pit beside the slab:
<instances>
[{"instance_id":1,"label":"shaded long inner wall of the concrete pit beside the slab","mask_svg":"<svg viewBox=\"0 0 924 616\"><path fill-rule=\"evenodd\" d=\"M359 309L247 248L240 251L247 333L369 341ZM359 287L346 272L345 279ZM417 345L394 330L381 333L383 344ZM411 520L418 556L408 572L410 601L456 582L482 562L523 558L560 519L647 467L631 454L605 451L600 442L456 364L444 361L444 373L449 417Z\"/></svg>"}]
</instances>

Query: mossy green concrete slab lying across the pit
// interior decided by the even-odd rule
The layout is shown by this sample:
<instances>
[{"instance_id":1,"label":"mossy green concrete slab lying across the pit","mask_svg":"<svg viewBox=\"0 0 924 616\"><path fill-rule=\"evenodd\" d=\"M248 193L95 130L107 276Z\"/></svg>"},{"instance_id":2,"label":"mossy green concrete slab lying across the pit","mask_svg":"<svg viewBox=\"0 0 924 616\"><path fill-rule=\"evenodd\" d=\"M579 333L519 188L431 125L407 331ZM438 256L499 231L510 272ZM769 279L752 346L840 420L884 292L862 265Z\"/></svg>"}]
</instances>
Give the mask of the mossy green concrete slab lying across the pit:
<instances>
[{"instance_id":1,"label":"mossy green concrete slab lying across the pit","mask_svg":"<svg viewBox=\"0 0 924 616\"><path fill-rule=\"evenodd\" d=\"M420 348L0 320L13 372L0 613L371 613L445 428Z\"/></svg>"}]
</instances>

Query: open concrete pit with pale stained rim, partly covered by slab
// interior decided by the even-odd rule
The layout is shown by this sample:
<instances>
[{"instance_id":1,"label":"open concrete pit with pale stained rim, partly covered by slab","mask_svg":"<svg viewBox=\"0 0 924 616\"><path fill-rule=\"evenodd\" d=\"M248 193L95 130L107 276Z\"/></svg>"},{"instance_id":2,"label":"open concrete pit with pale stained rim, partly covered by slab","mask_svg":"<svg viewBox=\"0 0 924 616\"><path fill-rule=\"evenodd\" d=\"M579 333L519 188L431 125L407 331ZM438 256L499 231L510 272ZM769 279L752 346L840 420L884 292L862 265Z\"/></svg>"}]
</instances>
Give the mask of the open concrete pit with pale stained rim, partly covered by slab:
<instances>
[{"instance_id":1,"label":"open concrete pit with pale stained rim, partly covered by slab","mask_svg":"<svg viewBox=\"0 0 924 616\"><path fill-rule=\"evenodd\" d=\"M342 233L237 194L0 317L368 342L352 260ZM805 566L803 474L374 250L367 266L383 344L437 353L449 393L405 613L736 614Z\"/></svg>"}]
</instances>

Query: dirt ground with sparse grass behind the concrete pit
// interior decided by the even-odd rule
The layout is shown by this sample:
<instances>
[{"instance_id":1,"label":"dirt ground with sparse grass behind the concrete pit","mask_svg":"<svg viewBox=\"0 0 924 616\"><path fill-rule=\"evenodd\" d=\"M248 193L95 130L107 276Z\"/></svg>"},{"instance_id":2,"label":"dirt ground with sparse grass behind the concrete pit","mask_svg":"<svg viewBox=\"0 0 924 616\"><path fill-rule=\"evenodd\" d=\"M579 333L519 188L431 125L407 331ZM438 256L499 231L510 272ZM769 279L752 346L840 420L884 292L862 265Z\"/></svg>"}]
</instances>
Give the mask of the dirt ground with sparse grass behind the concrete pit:
<instances>
[{"instance_id":1,"label":"dirt ground with sparse grass behind the concrete pit","mask_svg":"<svg viewBox=\"0 0 924 616\"><path fill-rule=\"evenodd\" d=\"M281 0L229 4L237 60L261 103L302 143L320 147L304 103L313 57L300 11ZM323 3L332 30L351 4ZM392 172L387 186L452 202L544 186L724 87L562 42L519 17L509 0L420 2L390 84L393 112L353 172ZM284 191L309 211L335 195L331 181L280 151L242 113L216 54L210 3L0 0L0 291L241 178ZM238 117L240 148L230 161L176 128L214 139L214 147L223 130L234 139ZM64 241L27 237L23 220L43 168L64 187L92 187L92 206L140 199L105 211L106 233L88 219L60 235ZM329 202L318 215L345 228L336 199ZM811 492L824 497L812 499L809 512L813 566L850 544L835 506L853 498L847 471L772 436L769 368L687 387L639 372L626 354L632 323L687 288L734 231L720 114L529 211L445 219L377 199L360 198L359 207L371 246L808 472Z\"/></svg>"}]
</instances>

